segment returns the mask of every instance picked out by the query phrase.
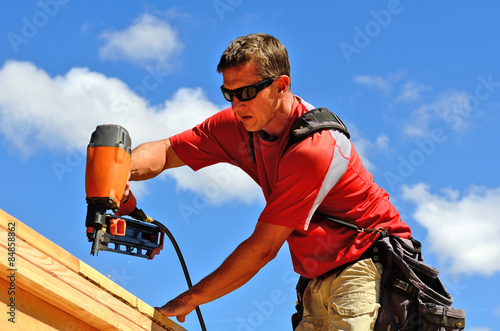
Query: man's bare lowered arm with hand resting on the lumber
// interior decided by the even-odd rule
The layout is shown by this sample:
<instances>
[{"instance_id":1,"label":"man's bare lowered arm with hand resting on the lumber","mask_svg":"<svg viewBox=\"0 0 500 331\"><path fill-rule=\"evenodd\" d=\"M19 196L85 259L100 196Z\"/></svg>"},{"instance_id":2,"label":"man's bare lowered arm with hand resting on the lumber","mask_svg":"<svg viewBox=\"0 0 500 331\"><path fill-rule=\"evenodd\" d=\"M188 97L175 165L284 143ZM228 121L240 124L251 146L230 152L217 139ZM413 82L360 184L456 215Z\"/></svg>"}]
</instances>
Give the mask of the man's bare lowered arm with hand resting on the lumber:
<instances>
[{"instance_id":1,"label":"man's bare lowered arm with hand resting on the lumber","mask_svg":"<svg viewBox=\"0 0 500 331\"><path fill-rule=\"evenodd\" d=\"M274 259L294 229L257 222L252 235L210 275L190 290L169 301L158 310L165 316L185 316L197 306L226 295L248 282L264 265Z\"/></svg>"}]
</instances>

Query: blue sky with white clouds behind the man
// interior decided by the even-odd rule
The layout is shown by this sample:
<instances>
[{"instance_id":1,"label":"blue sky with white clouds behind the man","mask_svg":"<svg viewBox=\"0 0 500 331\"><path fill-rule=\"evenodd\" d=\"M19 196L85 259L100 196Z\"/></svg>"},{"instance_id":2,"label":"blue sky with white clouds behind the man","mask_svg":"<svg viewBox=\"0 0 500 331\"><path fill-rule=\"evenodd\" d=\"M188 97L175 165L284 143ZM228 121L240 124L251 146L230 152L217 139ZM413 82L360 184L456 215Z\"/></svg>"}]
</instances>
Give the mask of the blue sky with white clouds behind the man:
<instances>
[{"instance_id":1,"label":"blue sky with white clouds behind the man","mask_svg":"<svg viewBox=\"0 0 500 331\"><path fill-rule=\"evenodd\" d=\"M500 4L495 1L12 2L0 12L0 208L152 306L186 288L171 245L152 261L85 237L85 149L98 124L133 146L227 107L215 68L230 40L278 37L292 91L336 112L426 260L466 309L500 322ZM217 165L133 183L177 239L194 282L255 226L264 202ZM296 276L287 247L241 289L201 307L209 330L287 330ZM184 326L199 329L195 314Z\"/></svg>"}]
</instances>

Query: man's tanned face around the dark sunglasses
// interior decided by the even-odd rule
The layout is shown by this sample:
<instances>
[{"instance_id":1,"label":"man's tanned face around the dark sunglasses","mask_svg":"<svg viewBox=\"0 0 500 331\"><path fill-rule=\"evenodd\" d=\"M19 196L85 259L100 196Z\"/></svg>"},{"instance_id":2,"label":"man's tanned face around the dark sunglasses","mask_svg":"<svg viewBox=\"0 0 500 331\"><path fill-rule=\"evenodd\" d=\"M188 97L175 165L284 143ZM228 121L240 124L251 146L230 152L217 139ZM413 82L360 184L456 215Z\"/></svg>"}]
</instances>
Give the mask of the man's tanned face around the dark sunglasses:
<instances>
[{"instance_id":1,"label":"man's tanned face around the dark sunglasses","mask_svg":"<svg viewBox=\"0 0 500 331\"><path fill-rule=\"evenodd\" d=\"M257 64L253 61L224 70L222 77L224 87L230 90L262 81L262 78L257 75ZM233 97L231 102L233 111L247 131L265 130L273 134L266 128L270 129L272 127L278 109L275 90L274 85L268 86L249 101L240 101L238 98Z\"/></svg>"}]
</instances>

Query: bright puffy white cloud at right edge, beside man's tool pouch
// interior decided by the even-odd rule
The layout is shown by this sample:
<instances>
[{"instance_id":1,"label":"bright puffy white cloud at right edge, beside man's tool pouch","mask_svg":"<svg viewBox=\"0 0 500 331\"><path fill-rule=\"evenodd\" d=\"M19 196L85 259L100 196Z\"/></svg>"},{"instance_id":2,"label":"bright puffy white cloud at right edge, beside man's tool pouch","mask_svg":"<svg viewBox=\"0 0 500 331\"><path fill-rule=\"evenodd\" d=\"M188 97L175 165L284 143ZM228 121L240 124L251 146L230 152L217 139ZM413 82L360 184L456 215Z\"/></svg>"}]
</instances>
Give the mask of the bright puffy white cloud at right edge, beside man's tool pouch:
<instances>
[{"instance_id":1,"label":"bright puffy white cloud at right edge, beside man's tool pouch","mask_svg":"<svg viewBox=\"0 0 500 331\"><path fill-rule=\"evenodd\" d=\"M500 188L432 194L425 184L403 186L413 217L428 230L429 249L453 273L500 271Z\"/></svg>"}]
</instances>

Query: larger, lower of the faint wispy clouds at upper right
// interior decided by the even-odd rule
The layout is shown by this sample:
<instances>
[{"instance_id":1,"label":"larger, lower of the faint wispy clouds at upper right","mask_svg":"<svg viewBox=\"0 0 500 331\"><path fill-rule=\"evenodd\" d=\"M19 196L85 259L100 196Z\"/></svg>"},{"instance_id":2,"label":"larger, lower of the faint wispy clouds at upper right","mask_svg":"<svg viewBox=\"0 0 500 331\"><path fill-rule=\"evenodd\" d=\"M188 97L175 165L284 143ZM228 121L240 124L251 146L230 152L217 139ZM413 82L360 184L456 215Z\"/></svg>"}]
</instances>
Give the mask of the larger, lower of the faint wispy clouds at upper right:
<instances>
[{"instance_id":1,"label":"larger, lower of the faint wispy clouds at upper right","mask_svg":"<svg viewBox=\"0 0 500 331\"><path fill-rule=\"evenodd\" d=\"M454 130L464 130L472 112L469 99L463 91L449 90L439 94L434 102L423 104L412 113L404 132L410 137L428 136L429 125L435 121L443 121Z\"/></svg>"}]
</instances>

